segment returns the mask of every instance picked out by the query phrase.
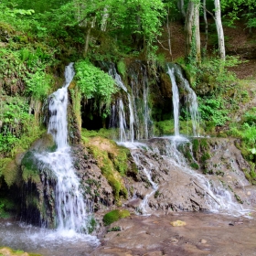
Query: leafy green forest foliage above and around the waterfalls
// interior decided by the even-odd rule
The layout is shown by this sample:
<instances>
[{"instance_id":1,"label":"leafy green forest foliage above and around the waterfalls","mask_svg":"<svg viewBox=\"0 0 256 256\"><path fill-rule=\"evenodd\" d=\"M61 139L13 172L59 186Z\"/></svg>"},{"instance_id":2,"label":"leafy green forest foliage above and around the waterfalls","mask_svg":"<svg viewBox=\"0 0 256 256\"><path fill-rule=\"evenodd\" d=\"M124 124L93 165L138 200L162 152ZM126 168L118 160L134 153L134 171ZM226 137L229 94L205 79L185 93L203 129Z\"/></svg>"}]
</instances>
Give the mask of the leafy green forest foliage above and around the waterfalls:
<instances>
[{"instance_id":1,"label":"leafy green forest foliage above and around the waterfalls","mask_svg":"<svg viewBox=\"0 0 256 256\"><path fill-rule=\"evenodd\" d=\"M155 71L159 65L157 49L163 49L159 40L164 28L170 31L169 23L174 21L184 24L190 2L199 3L199 16L203 20L203 2L195 0L2 0L0 156L13 157L15 152L24 151L31 144L31 134L34 139L40 135L38 131L44 120L38 112L48 95L61 86L59 77L71 61L76 62L76 82L83 99L94 99L99 110L104 108L102 114L107 115L117 88L112 78L96 67L97 61L118 62L124 75L125 64L120 59L143 59ZM235 26L235 21L240 19L247 27L256 27L255 1L223 0L220 4L225 26ZM207 0L206 8L209 18L216 11L214 1ZM191 29L193 34L195 26ZM209 33L217 37L215 29ZM171 55L172 37L176 35L169 33L166 55ZM193 38L192 35L192 53ZM216 47L211 52L202 49L202 61L195 61L193 53L192 59L180 62L195 90L199 91L204 82L214 84L211 91L200 95L201 117L214 127L225 126L230 122L231 112L228 92L232 89L228 86L235 80L227 67L239 62L229 58L219 60ZM229 134L239 136L246 143L252 159L256 138L253 116L253 111L248 112L229 130Z\"/></svg>"}]
</instances>

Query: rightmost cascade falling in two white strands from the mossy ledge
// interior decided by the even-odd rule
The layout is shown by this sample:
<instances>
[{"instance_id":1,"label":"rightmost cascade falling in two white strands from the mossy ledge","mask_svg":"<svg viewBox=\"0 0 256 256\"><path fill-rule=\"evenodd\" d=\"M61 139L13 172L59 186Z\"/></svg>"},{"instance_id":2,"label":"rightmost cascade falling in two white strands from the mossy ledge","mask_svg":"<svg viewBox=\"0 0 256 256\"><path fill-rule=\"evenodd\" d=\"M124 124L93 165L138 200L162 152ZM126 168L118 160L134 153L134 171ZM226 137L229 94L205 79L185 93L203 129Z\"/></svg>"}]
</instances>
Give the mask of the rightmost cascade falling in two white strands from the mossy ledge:
<instances>
[{"instance_id":1,"label":"rightmost cascade falling in two white strands from the mossy ledge","mask_svg":"<svg viewBox=\"0 0 256 256\"><path fill-rule=\"evenodd\" d=\"M175 121L175 135L179 135L179 92L176 84L176 76L179 80L179 86L182 87L186 92L186 103L188 106L188 111L190 113L190 118L193 128L193 136L199 136L199 113L198 113L198 103L197 103L197 94L189 85L188 80L184 77L182 69L178 65L168 65L167 73L170 76L172 81L172 91L173 91L173 106L174 106L174 121Z\"/></svg>"}]
</instances>

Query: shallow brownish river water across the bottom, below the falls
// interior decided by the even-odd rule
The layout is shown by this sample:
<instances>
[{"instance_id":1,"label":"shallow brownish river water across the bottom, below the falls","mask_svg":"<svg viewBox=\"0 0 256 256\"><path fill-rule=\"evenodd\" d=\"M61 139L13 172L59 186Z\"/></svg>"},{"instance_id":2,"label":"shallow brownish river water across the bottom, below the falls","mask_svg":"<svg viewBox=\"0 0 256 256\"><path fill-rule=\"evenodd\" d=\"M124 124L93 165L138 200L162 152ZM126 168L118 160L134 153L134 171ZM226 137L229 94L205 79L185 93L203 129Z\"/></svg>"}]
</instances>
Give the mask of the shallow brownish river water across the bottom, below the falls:
<instances>
[{"instance_id":1,"label":"shallow brownish river water across the bottom, below the falls","mask_svg":"<svg viewBox=\"0 0 256 256\"><path fill-rule=\"evenodd\" d=\"M173 227L182 220L186 226ZM93 236L73 236L57 231L0 221L0 245L45 256L81 255L256 255L256 214L233 217L204 212L132 216L112 223L121 231L102 230Z\"/></svg>"}]
</instances>

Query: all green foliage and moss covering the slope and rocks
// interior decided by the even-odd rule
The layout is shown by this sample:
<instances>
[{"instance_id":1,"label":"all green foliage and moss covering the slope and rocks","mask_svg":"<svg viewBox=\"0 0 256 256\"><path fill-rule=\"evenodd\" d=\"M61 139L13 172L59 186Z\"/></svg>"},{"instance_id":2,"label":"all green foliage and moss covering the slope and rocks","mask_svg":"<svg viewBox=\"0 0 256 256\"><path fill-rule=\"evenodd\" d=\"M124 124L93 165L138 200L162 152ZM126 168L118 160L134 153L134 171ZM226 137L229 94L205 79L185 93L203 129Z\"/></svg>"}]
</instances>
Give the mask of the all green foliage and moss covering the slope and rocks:
<instances>
[{"instance_id":1,"label":"all green foliage and moss covering the slope and rocks","mask_svg":"<svg viewBox=\"0 0 256 256\"><path fill-rule=\"evenodd\" d=\"M69 62L75 62L76 69L75 79L69 86L69 101L72 103L69 116L74 115L69 117L69 127L77 125L72 129L80 130L85 123L82 123L85 115L86 118L90 117L88 120L91 123L99 123L99 127L107 127L110 123L111 104L117 102L123 93L112 77L99 68L111 61L116 65L123 81L129 83L129 92L134 80L144 80L144 72L147 73L146 83L149 84L152 99L154 98L149 100L150 106L157 120L154 123L154 133L173 134L171 104L165 104L169 106L169 110L163 110L164 107L162 109L165 101L171 100L172 91L168 88L170 81L165 82L165 77L162 79L165 84L162 85L159 78L165 73L166 61L173 61L175 55L173 56L172 52L176 52L176 48L182 48L181 45L171 45L176 36L180 36L175 34L176 30L171 29L175 27L173 22L183 20L184 23L188 14L187 7L192 2L195 3L185 1L185 9L182 10L182 6L177 7L176 1L162 0L127 0L125 5L123 0L1 1L0 188L8 190L21 181L39 181L37 160L33 151L27 150L46 133L46 100L52 91L56 91L63 84L63 71ZM240 19L240 22L250 28L248 32L252 32L252 36L256 27L254 2L221 1L225 15L224 23L235 26L235 21ZM207 1L207 8L214 13L213 2ZM201 8L200 11L202 17L204 10ZM239 139L237 146L251 165L250 169L244 170L245 175L251 183L256 184L256 109L247 106L251 98L255 97L255 93L252 95L253 91L229 71L241 64L239 58L227 56L225 59L219 59L219 37L212 24L208 30L209 47L207 49L204 46L202 58L198 56L196 28L196 25L191 28L193 35L191 44L187 46L191 48L190 53L174 61L183 67L187 79L197 92L202 129L212 136L234 136ZM202 26L200 28L202 34ZM187 34L188 32L186 36ZM204 36L206 38L206 35ZM183 39L180 42L183 42ZM229 38L226 38L226 41L228 40ZM176 54L178 55L180 54ZM135 72L144 65L143 72L137 77L129 77L131 63L139 63ZM143 83L144 81L141 84ZM143 94L143 87L138 86L136 89L138 95ZM137 109L141 107L143 110L144 99L138 95L134 96L134 101L139 106ZM184 98L185 95L181 91L180 102L183 106L180 109L180 133L191 134L192 125L187 118ZM163 105L160 104L162 101ZM127 101L123 102L127 109ZM83 109L81 105L86 107ZM242 112L240 106L247 110ZM141 120L143 111L137 111L137 118ZM236 112L238 116L234 120ZM99 117L99 121L93 118L94 115ZM126 119L128 120L127 116ZM143 130L141 127L135 128L140 129L140 132ZM102 175L112 186L116 203L121 203L122 197L128 196L124 177L134 177L138 170L130 163L131 155L127 149L107 140L112 138L113 133L117 137L118 129L81 129L71 131L71 135L76 134L73 132L81 132L82 143L89 148L101 168ZM80 135L78 137L77 141L80 140ZM43 144L47 142L44 141ZM55 144L47 144L42 150L54 151L55 147ZM194 161L187 146L181 150L187 156L190 166L208 174L212 173L205 166L210 158L206 140L193 140L193 154L200 164ZM79 163L75 163L75 166L79 166ZM46 171L50 173L50 170ZM223 175L221 171L216 174ZM92 181L88 180L89 185L90 182ZM159 193L155 192L155 197L159 197ZM36 197L30 196L27 200L31 205L37 206ZM43 206L37 207L41 207L41 212L44 212ZM8 204L1 201L0 215L4 216L8 210ZM91 221L90 231L96 225Z\"/></svg>"}]
</instances>

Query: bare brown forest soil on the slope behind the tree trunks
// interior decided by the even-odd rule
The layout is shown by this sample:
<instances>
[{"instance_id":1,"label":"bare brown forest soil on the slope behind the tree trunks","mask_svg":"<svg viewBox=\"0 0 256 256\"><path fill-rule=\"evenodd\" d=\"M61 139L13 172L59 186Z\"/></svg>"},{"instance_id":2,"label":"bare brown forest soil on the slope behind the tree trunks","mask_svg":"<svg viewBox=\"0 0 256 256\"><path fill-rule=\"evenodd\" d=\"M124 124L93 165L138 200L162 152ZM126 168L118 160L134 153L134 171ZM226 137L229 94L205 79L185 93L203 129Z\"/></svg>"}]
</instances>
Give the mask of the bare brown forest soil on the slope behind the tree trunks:
<instances>
[{"instance_id":1,"label":"bare brown forest soil on the slope behind the tree trunks","mask_svg":"<svg viewBox=\"0 0 256 256\"><path fill-rule=\"evenodd\" d=\"M202 21L203 23L203 21ZM209 27L214 27L214 21L208 20ZM223 25L225 35L226 54L228 56L238 57L242 63L238 66L229 68L235 72L240 80L256 79L256 33L249 30L243 21L236 21L234 26L227 27ZM186 52L186 37L184 25L181 22L170 23L171 31L171 48L173 61L184 58ZM205 44L204 27L200 27L201 46ZM212 55L218 49L216 39L214 39L213 31L208 32L208 56ZM172 61L168 49L167 28L164 27L162 37L158 40L158 54L164 54L166 61Z\"/></svg>"}]
</instances>

